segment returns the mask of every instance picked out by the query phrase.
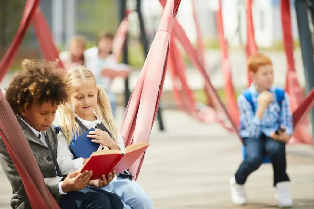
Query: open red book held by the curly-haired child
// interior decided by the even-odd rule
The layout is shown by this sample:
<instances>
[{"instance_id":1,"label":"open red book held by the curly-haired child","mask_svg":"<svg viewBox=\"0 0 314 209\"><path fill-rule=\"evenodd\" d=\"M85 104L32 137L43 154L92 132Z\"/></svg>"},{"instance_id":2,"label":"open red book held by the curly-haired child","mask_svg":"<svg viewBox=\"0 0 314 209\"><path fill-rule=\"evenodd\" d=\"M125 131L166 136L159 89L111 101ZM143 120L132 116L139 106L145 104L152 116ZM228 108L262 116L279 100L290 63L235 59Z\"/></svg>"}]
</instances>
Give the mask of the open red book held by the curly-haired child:
<instances>
[{"instance_id":1,"label":"open red book held by the curly-haired child","mask_svg":"<svg viewBox=\"0 0 314 209\"><path fill-rule=\"evenodd\" d=\"M84 164L80 173L85 170L92 170L93 175L90 180L100 179L102 174L107 176L114 169L118 174L129 169L148 146L148 143L141 142L127 146L123 152L117 149L94 152Z\"/></svg>"}]
</instances>

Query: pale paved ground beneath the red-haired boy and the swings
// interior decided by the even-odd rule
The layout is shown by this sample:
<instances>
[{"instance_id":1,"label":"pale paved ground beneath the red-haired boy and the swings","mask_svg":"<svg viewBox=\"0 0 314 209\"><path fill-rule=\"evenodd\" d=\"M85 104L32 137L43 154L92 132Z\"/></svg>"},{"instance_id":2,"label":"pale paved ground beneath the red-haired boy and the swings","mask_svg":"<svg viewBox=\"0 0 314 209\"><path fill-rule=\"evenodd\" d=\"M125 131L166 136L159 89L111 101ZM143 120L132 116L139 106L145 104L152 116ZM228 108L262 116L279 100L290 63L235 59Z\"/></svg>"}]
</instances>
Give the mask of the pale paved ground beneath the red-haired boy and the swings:
<instances>
[{"instance_id":1,"label":"pale paved ground beneath the red-haired boy and the swings","mask_svg":"<svg viewBox=\"0 0 314 209\"><path fill-rule=\"evenodd\" d=\"M123 112L118 114L118 124ZM230 201L228 180L241 161L240 142L217 125L205 125L179 111L164 111L167 131L155 126L138 182L156 209L276 208L272 169L263 165L249 178L249 204ZM288 147L288 173L295 208L314 208L314 150ZM0 208L9 208L11 188L0 170ZM259 183L258 183L259 182Z\"/></svg>"}]
</instances>

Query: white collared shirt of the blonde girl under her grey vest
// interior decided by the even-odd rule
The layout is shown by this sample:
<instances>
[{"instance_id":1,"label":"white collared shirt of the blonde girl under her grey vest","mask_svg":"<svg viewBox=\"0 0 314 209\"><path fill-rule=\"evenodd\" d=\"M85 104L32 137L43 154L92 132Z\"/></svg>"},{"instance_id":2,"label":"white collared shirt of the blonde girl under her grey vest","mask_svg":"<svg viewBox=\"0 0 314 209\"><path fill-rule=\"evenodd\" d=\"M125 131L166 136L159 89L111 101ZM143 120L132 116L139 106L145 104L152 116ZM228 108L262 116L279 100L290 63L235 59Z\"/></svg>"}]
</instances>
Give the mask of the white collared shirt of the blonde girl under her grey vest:
<instances>
[{"instance_id":1,"label":"white collared shirt of the blonde girl under her grey vest","mask_svg":"<svg viewBox=\"0 0 314 209\"><path fill-rule=\"evenodd\" d=\"M95 121L85 121L84 119L78 117L78 115L75 114L75 117L77 117L78 120L80 120L83 123L83 125L86 126L88 129L95 128L97 124L101 123L100 117L97 116L96 114L95 116L96 116ZM122 135L119 133L119 131L117 135L118 135L117 144L120 150L123 151L125 148L125 145L124 145ZM59 142L58 142L58 151L57 151L57 162L61 170L61 173L63 175L66 175L75 170L81 169L83 167L84 159L83 158L73 159L73 154L70 151L70 147L67 142L67 139L65 138L64 134L61 131L58 133L58 141ZM116 180L116 177L113 180Z\"/></svg>"}]
</instances>

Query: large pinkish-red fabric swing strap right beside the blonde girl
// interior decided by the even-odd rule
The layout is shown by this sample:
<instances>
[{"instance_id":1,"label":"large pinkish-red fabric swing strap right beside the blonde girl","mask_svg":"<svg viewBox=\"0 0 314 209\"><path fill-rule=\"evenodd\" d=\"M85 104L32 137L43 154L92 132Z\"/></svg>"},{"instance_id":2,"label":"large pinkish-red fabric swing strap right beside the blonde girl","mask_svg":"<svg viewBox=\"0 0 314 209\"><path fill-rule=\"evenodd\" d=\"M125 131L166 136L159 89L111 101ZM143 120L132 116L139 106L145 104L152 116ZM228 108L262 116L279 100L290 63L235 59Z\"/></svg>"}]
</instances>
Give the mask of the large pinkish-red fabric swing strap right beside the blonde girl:
<instances>
[{"instance_id":1,"label":"large pinkish-red fabric swing strap right beside the blonde girl","mask_svg":"<svg viewBox=\"0 0 314 209\"><path fill-rule=\"evenodd\" d=\"M162 93L168 59L171 31L181 0L168 0L160 26L144 62L123 117L121 132L126 145L148 142ZM130 168L138 177L143 158Z\"/></svg>"}]
</instances>

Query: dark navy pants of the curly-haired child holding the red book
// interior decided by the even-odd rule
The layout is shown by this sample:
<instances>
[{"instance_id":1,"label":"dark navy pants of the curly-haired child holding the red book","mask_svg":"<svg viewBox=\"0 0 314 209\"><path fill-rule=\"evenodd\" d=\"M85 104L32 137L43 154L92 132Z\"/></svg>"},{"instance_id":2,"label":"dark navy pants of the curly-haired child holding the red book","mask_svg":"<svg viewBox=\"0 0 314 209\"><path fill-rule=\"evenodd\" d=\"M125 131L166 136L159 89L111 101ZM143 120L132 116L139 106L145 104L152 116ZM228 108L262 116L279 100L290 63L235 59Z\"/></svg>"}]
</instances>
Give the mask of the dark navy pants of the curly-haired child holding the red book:
<instances>
[{"instance_id":1,"label":"dark navy pants of the curly-haired child holding the red book","mask_svg":"<svg viewBox=\"0 0 314 209\"><path fill-rule=\"evenodd\" d=\"M123 203L118 195L88 187L63 195L59 206L61 209L123 209Z\"/></svg>"}]
</instances>

